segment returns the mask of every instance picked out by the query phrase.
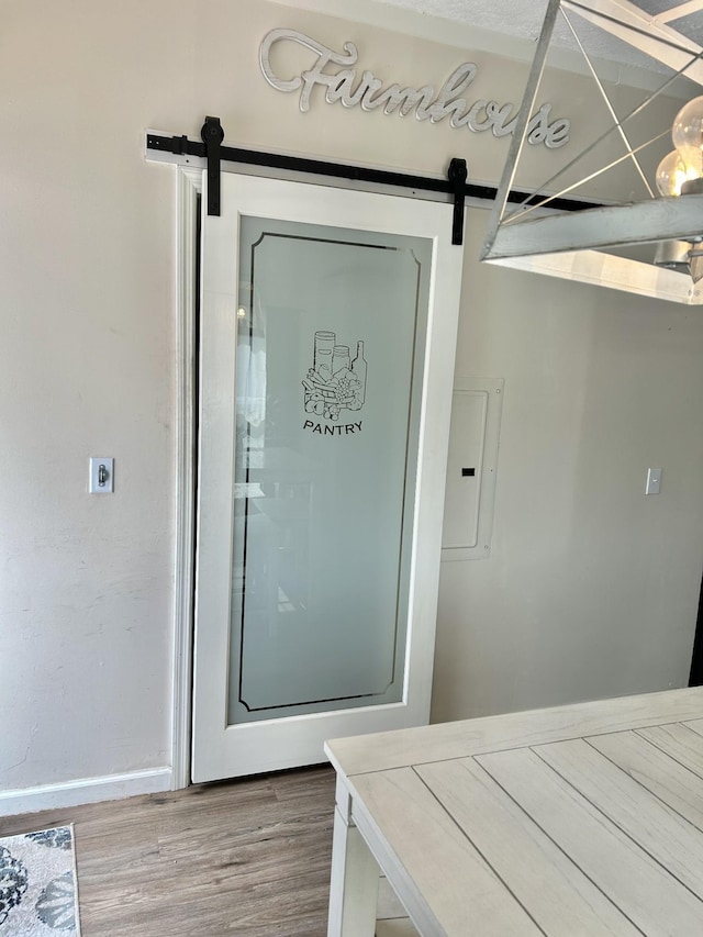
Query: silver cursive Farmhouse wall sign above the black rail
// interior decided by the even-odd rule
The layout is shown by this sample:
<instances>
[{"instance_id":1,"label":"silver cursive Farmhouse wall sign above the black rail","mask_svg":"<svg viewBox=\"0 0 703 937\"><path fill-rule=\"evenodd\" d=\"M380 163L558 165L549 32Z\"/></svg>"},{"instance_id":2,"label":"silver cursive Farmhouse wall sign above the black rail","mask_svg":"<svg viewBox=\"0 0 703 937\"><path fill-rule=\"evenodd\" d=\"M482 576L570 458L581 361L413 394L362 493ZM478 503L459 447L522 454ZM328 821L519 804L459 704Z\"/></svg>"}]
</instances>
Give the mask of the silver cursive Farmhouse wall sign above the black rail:
<instances>
[{"instance_id":1,"label":"silver cursive Farmhouse wall sign above the black rail","mask_svg":"<svg viewBox=\"0 0 703 937\"><path fill-rule=\"evenodd\" d=\"M312 68L301 71L292 78L281 78L271 66L270 53L278 42L293 42L315 54ZM465 92L475 80L478 66L465 62L454 69L438 93L434 86L421 88L401 88L400 85L383 87L383 81L373 72L364 71L358 76L359 54L352 42L344 43L344 52L335 52L323 43L300 33L297 30L271 30L264 37L259 49L261 71L266 80L278 91L300 91L300 110L310 110L310 98L315 87L324 89L325 100L330 104L342 102L345 108L359 105L365 111L383 109L384 114L398 112L408 116L412 111L419 121L438 123L449 118L453 127L468 127L473 133L491 131L493 136L507 136L515 132L517 113L513 104L499 104L496 101L478 100L469 103ZM331 72L324 69L338 66ZM543 143L556 149L569 142L571 122L566 118L551 121L551 104L543 104L529 120L526 132L527 143Z\"/></svg>"}]
</instances>

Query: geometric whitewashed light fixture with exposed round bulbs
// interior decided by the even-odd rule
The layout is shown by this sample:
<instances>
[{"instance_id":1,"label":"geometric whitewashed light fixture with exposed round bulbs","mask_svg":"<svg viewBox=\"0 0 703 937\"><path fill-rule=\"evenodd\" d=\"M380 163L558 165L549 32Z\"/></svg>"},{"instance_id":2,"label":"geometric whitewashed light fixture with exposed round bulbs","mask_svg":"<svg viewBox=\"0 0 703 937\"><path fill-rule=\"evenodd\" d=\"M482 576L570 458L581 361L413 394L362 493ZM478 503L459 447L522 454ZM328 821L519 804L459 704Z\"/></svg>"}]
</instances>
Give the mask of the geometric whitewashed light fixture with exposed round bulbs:
<instances>
[{"instance_id":1,"label":"geometric whitewashed light fixture with exposed round bulbs","mask_svg":"<svg viewBox=\"0 0 703 937\"><path fill-rule=\"evenodd\" d=\"M690 26L693 22L699 31L703 29L703 0L689 0L659 13L644 9L647 2L549 0L481 259L703 304L703 48L692 38L695 30L692 33L689 27L687 35L670 25L680 22ZM582 152L568 154L563 165L514 208L509 193L520 175L527 121L547 72L555 29L561 29L561 37L567 31L582 54L596 99L607 109L610 125L602 132L599 129L595 141ZM643 92L641 101L625 109L624 115L617 114L612 100L617 92L609 92L607 82L599 77L598 59L587 51L584 35L591 40L604 35L606 42L621 47L625 43L639 56L638 62L647 60L654 90ZM692 99L683 107L682 94ZM678 107L678 113L673 121L669 115L659 125L657 120L667 105L673 113L673 105ZM620 109L623 111L622 102ZM637 134L641 136L643 125L647 134L640 141ZM658 167L656 158L647 165L669 136L674 149ZM603 164L595 166L596 155L603 153ZM579 166L584 167L582 172ZM593 187L606 174L615 168L622 174L625 166L637 177L644 199L633 200L631 189L624 199L613 197L605 186L607 194L599 199L601 208L576 212L550 209L557 197L585 190L592 198Z\"/></svg>"}]
</instances>

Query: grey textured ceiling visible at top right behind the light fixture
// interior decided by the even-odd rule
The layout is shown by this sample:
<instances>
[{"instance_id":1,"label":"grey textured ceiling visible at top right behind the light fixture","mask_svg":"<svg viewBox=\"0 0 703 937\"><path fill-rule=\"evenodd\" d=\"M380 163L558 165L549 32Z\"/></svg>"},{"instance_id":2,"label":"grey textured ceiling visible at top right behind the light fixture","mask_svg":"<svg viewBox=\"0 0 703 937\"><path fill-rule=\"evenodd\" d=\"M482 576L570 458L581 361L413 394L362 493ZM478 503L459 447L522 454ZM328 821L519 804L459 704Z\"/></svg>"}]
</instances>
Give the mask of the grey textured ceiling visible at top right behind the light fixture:
<instances>
[{"instance_id":1,"label":"grey textured ceiling visible at top right behind the light fixture","mask_svg":"<svg viewBox=\"0 0 703 937\"><path fill-rule=\"evenodd\" d=\"M480 26L483 30L503 35L529 38L539 37L542 23L547 9L547 0L382 0L392 7L409 10L466 25ZM683 35L703 45L703 2L684 0L638 0L636 5L651 15L657 15L676 7L687 9L699 7L698 11L672 22L670 25ZM624 43L606 36L601 30L584 24L579 29L589 53L594 57L637 65L660 70L658 64L635 52ZM561 21L555 29L554 43L562 47L577 48L566 23Z\"/></svg>"}]
</instances>

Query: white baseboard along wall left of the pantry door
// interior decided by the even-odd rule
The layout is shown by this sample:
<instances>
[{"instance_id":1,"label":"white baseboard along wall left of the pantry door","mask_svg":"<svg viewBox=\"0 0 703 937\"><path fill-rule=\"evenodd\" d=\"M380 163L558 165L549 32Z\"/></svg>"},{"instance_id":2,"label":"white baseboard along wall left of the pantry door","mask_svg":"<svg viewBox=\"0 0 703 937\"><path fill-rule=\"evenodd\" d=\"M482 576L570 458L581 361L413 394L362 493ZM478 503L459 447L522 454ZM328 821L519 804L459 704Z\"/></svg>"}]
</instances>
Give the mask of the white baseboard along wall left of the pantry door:
<instances>
[{"instance_id":1,"label":"white baseboard along wall left of the pantry door","mask_svg":"<svg viewBox=\"0 0 703 937\"><path fill-rule=\"evenodd\" d=\"M127 774L108 774L104 778L83 778L64 784L0 791L0 816L60 810L94 804L98 801L116 801L136 794L169 791L171 773L170 768L154 768L149 771L131 771Z\"/></svg>"}]
</instances>

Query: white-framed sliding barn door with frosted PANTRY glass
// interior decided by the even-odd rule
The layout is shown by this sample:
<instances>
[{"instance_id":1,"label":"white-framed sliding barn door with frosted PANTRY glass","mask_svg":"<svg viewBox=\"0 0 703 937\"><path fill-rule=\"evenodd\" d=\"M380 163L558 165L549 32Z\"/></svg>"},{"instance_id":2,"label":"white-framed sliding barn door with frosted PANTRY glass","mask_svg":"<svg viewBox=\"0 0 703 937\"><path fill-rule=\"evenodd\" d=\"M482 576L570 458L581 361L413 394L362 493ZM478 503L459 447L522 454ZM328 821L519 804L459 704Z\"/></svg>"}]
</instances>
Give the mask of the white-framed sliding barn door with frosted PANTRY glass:
<instances>
[{"instance_id":1,"label":"white-framed sliding barn door with frosted PANTRY glass","mask_svg":"<svg viewBox=\"0 0 703 937\"><path fill-rule=\"evenodd\" d=\"M435 202L226 174L203 219L196 781L428 718L450 226Z\"/></svg>"}]
</instances>

